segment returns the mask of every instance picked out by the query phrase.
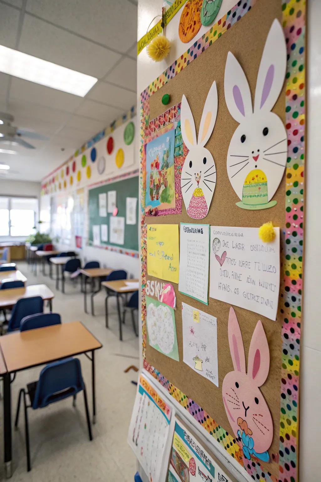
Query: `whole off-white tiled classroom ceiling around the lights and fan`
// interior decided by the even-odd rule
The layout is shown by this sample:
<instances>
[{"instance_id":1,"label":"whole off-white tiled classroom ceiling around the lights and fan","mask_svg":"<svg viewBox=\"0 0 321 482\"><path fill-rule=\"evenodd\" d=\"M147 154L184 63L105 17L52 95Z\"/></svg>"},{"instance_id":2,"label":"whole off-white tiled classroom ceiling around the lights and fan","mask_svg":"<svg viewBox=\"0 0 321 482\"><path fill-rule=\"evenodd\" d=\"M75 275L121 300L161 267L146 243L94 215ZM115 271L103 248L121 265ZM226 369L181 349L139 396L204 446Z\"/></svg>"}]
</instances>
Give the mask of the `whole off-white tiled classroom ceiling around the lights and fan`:
<instances>
[{"instance_id":1,"label":"whole off-white tiled classroom ceiling around the lights and fan","mask_svg":"<svg viewBox=\"0 0 321 482\"><path fill-rule=\"evenodd\" d=\"M0 112L48 137L0 143L17 151L0 153L0 179L40 181L136 105L136 39L137 0L0 0L0 45L98 78L78 97L0 73Z\"/></svg>"}]
</instances>

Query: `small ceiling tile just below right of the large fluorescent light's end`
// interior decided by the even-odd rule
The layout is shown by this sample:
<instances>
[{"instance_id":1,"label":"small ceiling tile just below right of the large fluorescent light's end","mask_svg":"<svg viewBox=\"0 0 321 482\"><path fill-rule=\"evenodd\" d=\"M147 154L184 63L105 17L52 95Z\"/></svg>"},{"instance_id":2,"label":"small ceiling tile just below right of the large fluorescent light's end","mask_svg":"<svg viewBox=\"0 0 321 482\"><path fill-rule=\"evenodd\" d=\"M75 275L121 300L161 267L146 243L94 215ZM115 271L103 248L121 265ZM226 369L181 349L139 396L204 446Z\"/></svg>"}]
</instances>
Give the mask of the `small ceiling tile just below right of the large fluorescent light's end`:
<instances>
[{"instance_id":1,"label":"small ceiling tile just below right of the large fluorescent light's end","mask_svg":"<svg viewBox=\"0 0 321 482\"><path fill-rule=\"evenodd\" d=\"M97 82L91 89L88 97L123 110L129 110L136 104L136 94L134 92L105 82Z\"/></svg>"}]
</instances>

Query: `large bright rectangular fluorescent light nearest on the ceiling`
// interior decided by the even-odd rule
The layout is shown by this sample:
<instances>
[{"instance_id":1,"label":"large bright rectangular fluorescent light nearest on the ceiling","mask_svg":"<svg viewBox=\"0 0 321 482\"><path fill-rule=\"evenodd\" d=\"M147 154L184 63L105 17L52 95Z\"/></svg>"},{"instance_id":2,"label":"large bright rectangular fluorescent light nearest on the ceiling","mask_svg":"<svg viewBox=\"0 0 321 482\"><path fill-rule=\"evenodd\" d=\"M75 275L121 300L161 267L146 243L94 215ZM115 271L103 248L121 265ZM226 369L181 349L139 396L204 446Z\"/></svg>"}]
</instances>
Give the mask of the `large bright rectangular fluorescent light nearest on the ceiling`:
<instances>
[{"instance_id":1,"label":"large bright rectangular fluorescent light nearest on the ceiling","mask_svg":"<svg viewBox=\"0 0 321 482\"><path fill-rule=\"evenodd\" d=\"M0 45L0 72L84 97L98 79Z\"/></svg>"}]
</instances>

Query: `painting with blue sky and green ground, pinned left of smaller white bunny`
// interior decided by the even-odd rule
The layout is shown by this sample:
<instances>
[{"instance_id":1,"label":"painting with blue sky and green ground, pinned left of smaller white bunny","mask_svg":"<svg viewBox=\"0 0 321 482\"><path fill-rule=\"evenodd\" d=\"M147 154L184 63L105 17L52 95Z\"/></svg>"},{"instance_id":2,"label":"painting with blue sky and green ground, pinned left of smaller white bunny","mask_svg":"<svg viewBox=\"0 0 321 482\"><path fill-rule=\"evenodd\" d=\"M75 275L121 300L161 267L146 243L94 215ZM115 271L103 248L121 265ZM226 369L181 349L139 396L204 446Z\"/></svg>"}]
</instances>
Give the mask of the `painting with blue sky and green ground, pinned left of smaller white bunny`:
<instances>
[{"instance_id":1,"label":"painting with blue sky and green ground, pinned left of smaller white bunny","mask_svg":"<svg viewBox=\"0 0 321 482\"><path fill-rule=\"evenodd\" d=\"M175 129L146 145L146 207L175 208Z\"/></svg>"}]
</instances>

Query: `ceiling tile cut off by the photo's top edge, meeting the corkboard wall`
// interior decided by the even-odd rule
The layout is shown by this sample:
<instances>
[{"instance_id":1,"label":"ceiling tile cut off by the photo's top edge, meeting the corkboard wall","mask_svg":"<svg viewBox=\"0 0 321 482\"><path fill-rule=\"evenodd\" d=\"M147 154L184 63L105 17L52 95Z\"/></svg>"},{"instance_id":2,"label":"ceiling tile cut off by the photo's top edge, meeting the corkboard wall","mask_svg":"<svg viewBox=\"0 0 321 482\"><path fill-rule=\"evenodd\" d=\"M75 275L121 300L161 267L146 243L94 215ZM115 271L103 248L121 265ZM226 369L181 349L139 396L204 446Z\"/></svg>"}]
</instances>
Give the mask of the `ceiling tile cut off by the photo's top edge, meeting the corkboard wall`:
<instances>
[{"instance_id":1,"label":"ceiling tile cut off by the photo's top edge, meeting the corkboard wall","mask_svg":"<svg viewBox=\"0 0 321 482\"><path fill-rule=\"evenodd\" d=\"M136 41L137 6L128 0L27 0L26 11L117 52Z\"/></svg>"}]
</instances>

